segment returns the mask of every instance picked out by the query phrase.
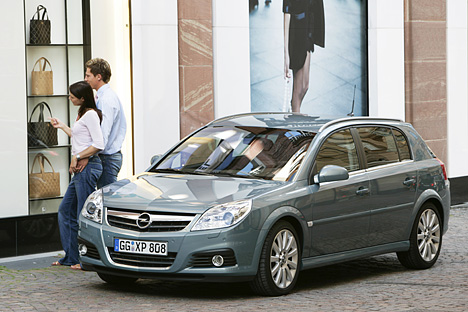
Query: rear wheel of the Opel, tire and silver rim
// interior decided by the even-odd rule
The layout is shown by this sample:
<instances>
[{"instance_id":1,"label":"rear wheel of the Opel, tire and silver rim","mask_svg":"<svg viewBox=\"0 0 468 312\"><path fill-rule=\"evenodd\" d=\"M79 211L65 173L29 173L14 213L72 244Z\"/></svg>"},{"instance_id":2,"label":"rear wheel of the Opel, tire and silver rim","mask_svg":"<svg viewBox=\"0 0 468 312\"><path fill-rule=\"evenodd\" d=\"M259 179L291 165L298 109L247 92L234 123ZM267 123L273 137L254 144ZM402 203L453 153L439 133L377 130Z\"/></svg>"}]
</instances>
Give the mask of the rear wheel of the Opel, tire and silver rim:
<instances>
[{"instance_id":1,"label":"rear wheel of the Opel, tire and silver rim","mask_svg":"<svg viewBox=\"0 0 468 312\"><path fill-rule=\"evenodd\" d=\"M440 214L432 203L419 210L410 236L410 248L397 252L400 263L409 269L427 269L436 263L442 247Z\"/></svg>"}]
</instances>

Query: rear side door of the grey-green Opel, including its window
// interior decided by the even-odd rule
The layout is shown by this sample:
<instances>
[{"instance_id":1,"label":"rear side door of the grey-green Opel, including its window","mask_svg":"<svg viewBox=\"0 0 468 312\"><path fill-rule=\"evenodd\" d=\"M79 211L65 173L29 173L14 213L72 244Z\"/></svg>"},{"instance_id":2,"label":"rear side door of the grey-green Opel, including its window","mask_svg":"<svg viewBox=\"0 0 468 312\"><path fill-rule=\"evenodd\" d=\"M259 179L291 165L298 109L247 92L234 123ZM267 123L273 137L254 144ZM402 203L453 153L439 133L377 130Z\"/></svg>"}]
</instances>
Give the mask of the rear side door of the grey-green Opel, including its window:
<instances>
[{"instance_id":1,"label":"rear side door of the grey-green Opel, including its window","mask_svg":"<svg viewBox=\"0 0 468 312\"><path fill-rule=\"evenodd\" d=\"M417 167L403 133L390 127L356 128L370 181L369 244L407 239L417 187Z\"/></svg>"}]
</instances>

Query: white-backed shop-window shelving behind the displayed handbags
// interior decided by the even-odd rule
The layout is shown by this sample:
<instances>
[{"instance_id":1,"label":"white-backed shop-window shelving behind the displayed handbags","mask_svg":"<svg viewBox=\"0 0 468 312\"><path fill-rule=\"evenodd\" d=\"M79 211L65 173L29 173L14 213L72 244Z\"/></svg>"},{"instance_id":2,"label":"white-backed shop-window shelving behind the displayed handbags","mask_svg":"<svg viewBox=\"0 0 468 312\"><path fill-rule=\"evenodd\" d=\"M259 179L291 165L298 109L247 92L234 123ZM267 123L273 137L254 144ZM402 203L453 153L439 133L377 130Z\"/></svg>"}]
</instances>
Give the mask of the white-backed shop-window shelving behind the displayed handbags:
<instances>
[{"instance_id":1,"label":"white-backed shop-window shelving behind the displayed handbags","mask_svg":"<svg viewBox=\"0 0 468 312\"><path fill-rule=\"evenodd\" d=\"M52 117L62 120L67 126L75 121L77 108L69 101L68 87L71 83L83 80L85 75L84 62L91 55L90 44L90 7L89 0L23 0L25 23L26 52L26 99L28 121L38 120L38 110L31 116L34 107L45 101L51 108ZM43 4L47 8L51 21L51 43L31 44L29 42L29 23L36 7ZM86 39L84 39L86 38ZM53 94L31 94L31 72L40 57L49 60L53 72ZM37 68L36 68L37 70ZM48 69L46 69L48 70ZM47 109L44 121L50 117ZM60 174L60 196L46 198L29 198L29 214L56 213L70 181L68 172L71 160L71 144L69 137L58 130L58 145L28 147L29 172L37 172L33 168L35 155L43 153L51 162L55 172ZM36 164L37 166L37 164ZM51 171L48 164L47 172Z\"/></svg>"}]
</instances>

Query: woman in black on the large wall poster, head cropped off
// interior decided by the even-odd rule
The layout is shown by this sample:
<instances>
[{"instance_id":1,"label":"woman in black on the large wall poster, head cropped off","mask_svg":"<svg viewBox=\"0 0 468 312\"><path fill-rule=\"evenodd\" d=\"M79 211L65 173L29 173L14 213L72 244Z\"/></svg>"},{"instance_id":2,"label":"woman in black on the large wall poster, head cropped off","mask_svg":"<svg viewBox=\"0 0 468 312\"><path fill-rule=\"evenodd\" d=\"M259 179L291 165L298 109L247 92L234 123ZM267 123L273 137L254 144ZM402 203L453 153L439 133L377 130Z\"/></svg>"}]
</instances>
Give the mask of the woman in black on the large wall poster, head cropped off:
<instances>
[{"instance_id":1,"label":"woman in black on the large wall poster, head cropped off","mask_svg":"<svg viewBox=\"0 0 468 312\"><path fill-rule=\"evenodd\" d=\"M309 89L310 52L314 45L325 47L323 0L283 0L284 76L291 78L291 107L299 112Z\"/></svg>"}]
</instances>

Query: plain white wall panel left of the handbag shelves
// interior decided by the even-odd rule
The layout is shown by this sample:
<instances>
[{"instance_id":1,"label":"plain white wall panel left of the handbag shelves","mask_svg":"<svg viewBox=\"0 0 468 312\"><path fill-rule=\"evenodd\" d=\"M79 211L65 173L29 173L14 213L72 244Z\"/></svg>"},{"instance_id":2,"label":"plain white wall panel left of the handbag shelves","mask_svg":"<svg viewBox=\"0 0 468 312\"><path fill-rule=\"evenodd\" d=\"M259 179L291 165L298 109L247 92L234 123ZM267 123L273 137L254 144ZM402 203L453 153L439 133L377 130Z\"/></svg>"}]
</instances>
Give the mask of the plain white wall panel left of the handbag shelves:
<instances>
[{"instance_id":1,"label":"plain white wall panel left of the handbag shelves","mask_svg":"<svg viewBox=\"0 0 468 312\"><path fill-rule=\"evenodd\" d=\"M28 215L28 142L23 1L4 1L0 19L0 218Z\"/></svg>"}]
</instances>

